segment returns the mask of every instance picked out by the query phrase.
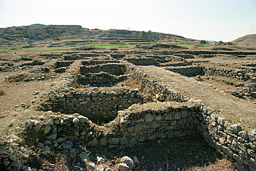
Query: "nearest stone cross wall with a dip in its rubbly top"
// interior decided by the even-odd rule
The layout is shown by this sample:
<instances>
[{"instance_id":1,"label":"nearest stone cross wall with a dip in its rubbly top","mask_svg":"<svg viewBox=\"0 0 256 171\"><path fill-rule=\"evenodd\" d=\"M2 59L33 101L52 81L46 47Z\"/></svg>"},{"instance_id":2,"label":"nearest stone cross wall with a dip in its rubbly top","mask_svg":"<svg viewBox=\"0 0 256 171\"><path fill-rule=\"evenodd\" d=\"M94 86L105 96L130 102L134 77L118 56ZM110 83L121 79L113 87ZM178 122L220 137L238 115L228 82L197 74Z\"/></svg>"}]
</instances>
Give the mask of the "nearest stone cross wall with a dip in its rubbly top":
<instances>
[{"instance_id":1,"label":"nearest stone cross wall with a dip in its rubbly top","mask_svg":"<svg viewBox=\"0 0 256 171\"><path fill-rule=\"evenodd\" d=\"M154 139L195 134L199 107L172 105L157 110L150 107L152 105L148 105L147 110L134 105L129 110L119 111L118 117L104 126L77 113L33 118L25 123L27 141L42 153L55 152L72 157L71 151L76 153L73 156L80 155L80 145L123 148Z\"/></svg>"}]
</instances>

